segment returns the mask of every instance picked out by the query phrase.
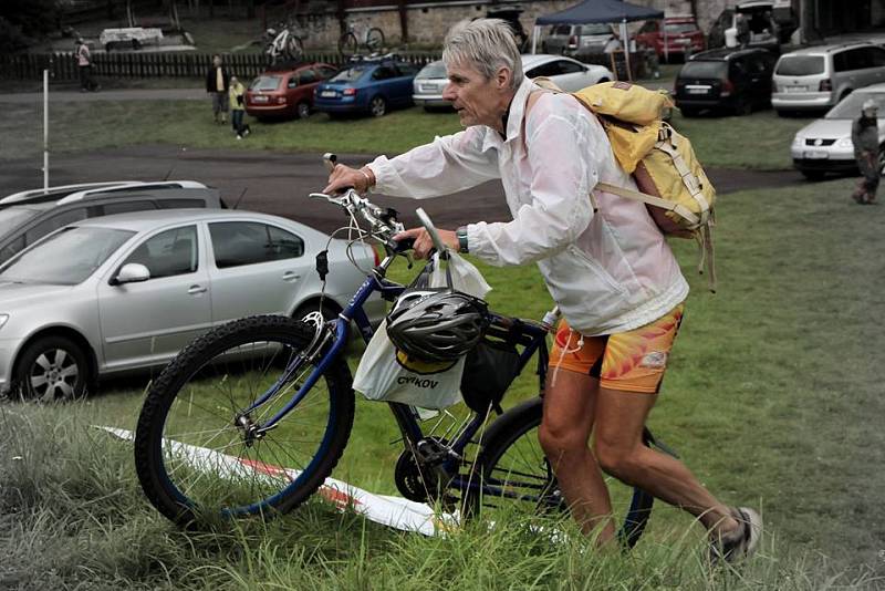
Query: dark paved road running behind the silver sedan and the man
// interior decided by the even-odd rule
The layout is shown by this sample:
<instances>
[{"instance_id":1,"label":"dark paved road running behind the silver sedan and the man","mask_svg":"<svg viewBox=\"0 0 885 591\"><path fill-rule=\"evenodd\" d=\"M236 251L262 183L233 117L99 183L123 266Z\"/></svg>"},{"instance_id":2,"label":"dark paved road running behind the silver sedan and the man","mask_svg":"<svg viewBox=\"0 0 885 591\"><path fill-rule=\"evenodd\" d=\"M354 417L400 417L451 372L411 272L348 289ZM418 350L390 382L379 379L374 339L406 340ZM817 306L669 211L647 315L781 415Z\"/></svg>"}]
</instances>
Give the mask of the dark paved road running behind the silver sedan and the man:
<instances>
[{"instance_id":1,"label":"dark paved road running behind the silver sedan and the man","mask_svg":"<svg viewBox=\"0 0 885 591\"><path fill-rule=\"evenodd\" d=\"M341 162L363 164L366 155L341 155ZM0 166L0 195L39 188L43 182L38 157L7 160ZM708 170L719 194L783 187L804 183L793 170ZM296 219L323 231L345 224L341 211L306 195L325 186L326 174L320 154L287 154L259 151L185 149L175 146L135 146L88 154L54 155L50 160L50 184L64 185L97 180L192 179L221 189L223 198L240 207ZM246 191L243 194L243 191ZM417 224L412 214L423 206L442 228L479 219L509 219L500 183L491 182L447 197L410 199L377 196L379 205L402 211L407 225Z\"/></svg>"}]
</instances>

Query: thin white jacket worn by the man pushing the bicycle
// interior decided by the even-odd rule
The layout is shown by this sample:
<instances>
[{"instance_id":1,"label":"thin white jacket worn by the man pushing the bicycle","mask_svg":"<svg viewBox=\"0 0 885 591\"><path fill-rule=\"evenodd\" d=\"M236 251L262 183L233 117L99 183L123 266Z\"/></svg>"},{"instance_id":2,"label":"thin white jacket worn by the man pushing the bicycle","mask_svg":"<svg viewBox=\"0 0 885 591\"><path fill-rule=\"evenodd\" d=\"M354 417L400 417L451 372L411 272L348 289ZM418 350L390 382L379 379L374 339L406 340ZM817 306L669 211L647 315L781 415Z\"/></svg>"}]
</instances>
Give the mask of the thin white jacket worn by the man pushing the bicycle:
<instances>
[{"instance_id":1,"label":"thin white jacket worn by the man pushing the bicycle","mask_svg":"<svg viewBox=\"0 0 885 591\"><path fill-rule=\"evenodd\" d=\"M498 266L537 262L569 324L583 334L657 320L688 296L669 246L644 204L593 189L598 182L636 185L577 100L545 93L523 126L534 90L525 80L517 91L506 141L477 125L395 158L379 156L369 164L375 190L421 199L500 178L513 220L470 224L471 253Z\"/></svg>"}]
</instances>

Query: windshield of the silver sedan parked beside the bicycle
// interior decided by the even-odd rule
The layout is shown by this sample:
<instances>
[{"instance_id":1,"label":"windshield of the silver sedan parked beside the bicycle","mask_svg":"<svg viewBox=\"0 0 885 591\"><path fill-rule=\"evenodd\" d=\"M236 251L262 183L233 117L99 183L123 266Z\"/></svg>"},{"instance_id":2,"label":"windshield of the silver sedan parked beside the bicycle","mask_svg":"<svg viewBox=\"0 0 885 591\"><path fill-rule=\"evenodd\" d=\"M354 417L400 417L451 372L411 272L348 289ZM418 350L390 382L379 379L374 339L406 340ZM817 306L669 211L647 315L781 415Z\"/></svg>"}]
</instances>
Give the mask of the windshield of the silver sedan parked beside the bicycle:
<instances>
[{"instance_id":1,"label":"windshield of the silver sedan parked beside the bicycle","mask_svg":"<svg viewBox=\"0 0 885 591\"><path fill-rule=\"evenodd\" d=\"M65 228L13 259L0 280L75 286L134 235L113 228Z\"/></svg>"}]
</instances>

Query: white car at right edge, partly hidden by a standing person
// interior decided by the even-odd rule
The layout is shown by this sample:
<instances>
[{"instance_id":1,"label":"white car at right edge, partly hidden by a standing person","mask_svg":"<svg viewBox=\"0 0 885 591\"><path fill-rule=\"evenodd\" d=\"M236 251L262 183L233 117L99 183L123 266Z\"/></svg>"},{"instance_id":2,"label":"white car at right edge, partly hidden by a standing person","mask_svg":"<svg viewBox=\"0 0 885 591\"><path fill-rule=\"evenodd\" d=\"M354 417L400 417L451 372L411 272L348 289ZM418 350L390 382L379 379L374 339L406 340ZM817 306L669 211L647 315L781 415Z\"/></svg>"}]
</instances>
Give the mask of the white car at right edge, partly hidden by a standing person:
<instances>
[{"instance_id":1,"label":"white car at right edge, partly hidden by a standing person","mask_svg":"<svg viewBox=\"0 0 885 591\"><path fill-rule=\"evenodd\" d=\"M810 179L823 178L826 173L857 173L851 126L861 115L861 105L870 100L879 108L879 167L885 165L885 84L875 84L854 91L823 118L799 129L790 146L793 166Z\"/></svg>"}]
</instances>

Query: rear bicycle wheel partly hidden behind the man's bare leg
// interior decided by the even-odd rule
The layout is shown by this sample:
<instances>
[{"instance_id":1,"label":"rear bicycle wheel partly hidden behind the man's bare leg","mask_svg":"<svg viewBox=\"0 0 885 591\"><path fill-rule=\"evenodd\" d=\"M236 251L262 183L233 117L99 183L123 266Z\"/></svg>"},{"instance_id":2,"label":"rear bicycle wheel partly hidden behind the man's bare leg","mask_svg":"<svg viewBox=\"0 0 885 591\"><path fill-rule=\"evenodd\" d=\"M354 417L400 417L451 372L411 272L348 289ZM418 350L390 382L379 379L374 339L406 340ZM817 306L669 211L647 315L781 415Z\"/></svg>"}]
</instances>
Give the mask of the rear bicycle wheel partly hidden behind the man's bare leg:
<instances>
[{"instance_id":1,"label":"rear bicycle wheel partly hidden behind the man's bare leg","mask_svg":"<svg viewBox=\"0 0 885 591\"><path fill-rule=\"evenodd\" d=\"M480 486L503 487L512 496L523 496L527 502L534 504L533 512L565 511L565 499L559 491L555 476L544 457L538 442L538 427L541 425L543 401L540 397L521 403L508 409L489 427L477 457L478 484ZM502 459L513 452L512 464ZM517 469L516 463L521 464ZM538 474L530 475L532 465ZM519 475L524 480L504 480L504 475ZM615 514L623 515L618 538L627 548L633 548L648 523L654 497L641 488L627 487L620 483L607 483ZM540 495L538 491L540 490ZM538 497L538 499L535 499ZM486 507L493 507L494 499L503 498L471 489L465 499L465 510L477 515ZM511 502L513 498L507 498ZM618 507L621 510L618 510Z\"/></svg>"}]
</instances>

